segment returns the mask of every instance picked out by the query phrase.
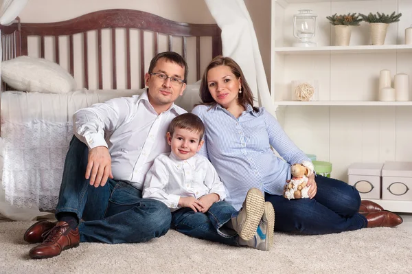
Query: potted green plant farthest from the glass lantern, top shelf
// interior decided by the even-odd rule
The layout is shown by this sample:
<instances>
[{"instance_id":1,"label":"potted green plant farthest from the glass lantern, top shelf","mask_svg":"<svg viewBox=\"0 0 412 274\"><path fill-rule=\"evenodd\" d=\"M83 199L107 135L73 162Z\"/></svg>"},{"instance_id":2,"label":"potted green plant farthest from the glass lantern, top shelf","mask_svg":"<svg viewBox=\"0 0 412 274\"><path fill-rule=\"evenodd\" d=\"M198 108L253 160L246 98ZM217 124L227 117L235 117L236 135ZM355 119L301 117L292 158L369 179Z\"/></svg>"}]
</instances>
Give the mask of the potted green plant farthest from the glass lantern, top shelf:
<instances>
[{"instance_id":1,"label":"potted green plant farthest from the glass lantern, top shelf","mask_svg":"<svg viewBox=\"0 0 412 274\"><path fill-rule=\"evenodd\" d=\"M363 21L370 25L372 45L383 45L389 24L398 22L402 13L396 14L396 12L392 12L392 14L389 15L383 12L376 12L376 14L369 13L369 15L360 15Z\"/></svg>"}]
</instances>

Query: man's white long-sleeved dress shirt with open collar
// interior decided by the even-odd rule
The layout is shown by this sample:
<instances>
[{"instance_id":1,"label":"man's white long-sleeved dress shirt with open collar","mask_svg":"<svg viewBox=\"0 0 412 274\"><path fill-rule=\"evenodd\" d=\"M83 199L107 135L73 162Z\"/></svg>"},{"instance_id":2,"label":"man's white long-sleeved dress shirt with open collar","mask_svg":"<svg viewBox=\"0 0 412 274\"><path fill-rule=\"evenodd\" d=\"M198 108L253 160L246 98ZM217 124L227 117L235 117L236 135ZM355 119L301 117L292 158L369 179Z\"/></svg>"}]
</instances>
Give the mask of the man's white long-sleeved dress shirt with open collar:
<instances>
[{"instance_id":1,"label":"man's white long-sleeved dress shirt with open collar","mask_svg":"<svg viewBox=\"0 0 412 274\"><path fill-rule=\"evenodd\" d=\"M114 98L80 109L73 115L73 129L90 149L106 146L114 178L129 181L141 190L155 158L170 152L166 141L168 126L183 113L184 109L172 104L168 111L158 115L145 89L141 95Z\"/></svg>"}]
</instances>

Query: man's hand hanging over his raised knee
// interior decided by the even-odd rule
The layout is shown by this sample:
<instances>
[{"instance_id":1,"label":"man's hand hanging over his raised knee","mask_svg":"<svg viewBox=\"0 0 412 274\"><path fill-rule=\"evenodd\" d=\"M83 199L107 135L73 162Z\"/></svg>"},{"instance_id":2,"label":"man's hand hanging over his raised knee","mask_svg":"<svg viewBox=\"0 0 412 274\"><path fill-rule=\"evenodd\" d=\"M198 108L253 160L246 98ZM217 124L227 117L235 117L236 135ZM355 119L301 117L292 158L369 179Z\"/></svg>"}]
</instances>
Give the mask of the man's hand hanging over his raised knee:
<instances>
[{"instance_id":1,"label":"man's hand hanging over his raised knee","mask_svg":"<svg viewBox=\"0 0 412 274\"><path fill-rule=\"evenodd\" d=\"M111 172L111 157L108 148L98 146L89 150L89 157L86 168L86 179L90 178L90 185L98 187L107 183L108 177L113 179Z\"/></svg>"}]
</instances>

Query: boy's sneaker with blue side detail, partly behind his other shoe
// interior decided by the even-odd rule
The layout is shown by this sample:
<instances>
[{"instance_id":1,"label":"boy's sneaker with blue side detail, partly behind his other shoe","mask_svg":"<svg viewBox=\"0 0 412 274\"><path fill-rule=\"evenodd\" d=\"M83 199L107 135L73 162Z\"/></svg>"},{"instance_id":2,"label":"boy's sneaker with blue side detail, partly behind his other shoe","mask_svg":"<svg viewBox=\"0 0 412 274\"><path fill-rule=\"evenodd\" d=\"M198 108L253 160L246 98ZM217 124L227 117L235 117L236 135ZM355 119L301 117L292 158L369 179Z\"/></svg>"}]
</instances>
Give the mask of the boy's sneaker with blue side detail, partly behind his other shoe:
<instances>
[{"instance_id":1,"label":"boy's sneaker with blue side detail, partly behind his other shoe","mask_svg":"<svg viewBox=\"0 0 412 274\"><path fill-rule=\"evenodd\" d=\"M245 241L239 239L242 246L268 251L273 245L273 229L275 228L275 210L270 202L264 204L264 214L254 237Z\"/></svg>"}]
</instances>

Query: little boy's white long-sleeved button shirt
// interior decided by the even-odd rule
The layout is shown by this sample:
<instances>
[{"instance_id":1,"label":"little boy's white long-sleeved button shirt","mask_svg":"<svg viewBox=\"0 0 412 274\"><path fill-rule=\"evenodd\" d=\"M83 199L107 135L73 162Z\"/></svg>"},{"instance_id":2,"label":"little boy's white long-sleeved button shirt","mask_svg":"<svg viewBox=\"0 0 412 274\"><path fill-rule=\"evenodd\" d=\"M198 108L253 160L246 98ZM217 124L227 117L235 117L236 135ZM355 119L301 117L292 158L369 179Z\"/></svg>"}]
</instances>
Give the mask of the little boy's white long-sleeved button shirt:
<instances>
[{"instance_id":1,"label":"little boy's white long-sleeved button shirt","mask_svg":"<svg viewBox=\"0 0 412 274\"><path fill-rule=\"evenodd\" d=\"M181 160L173 152L155 159L143 188L143 198L161 201L172 212L179 209L181 196L200 198L210 193L218 194L219 201L226 198L225 186L209 160L197 154Z\"/></svg>"}]
</instances>

